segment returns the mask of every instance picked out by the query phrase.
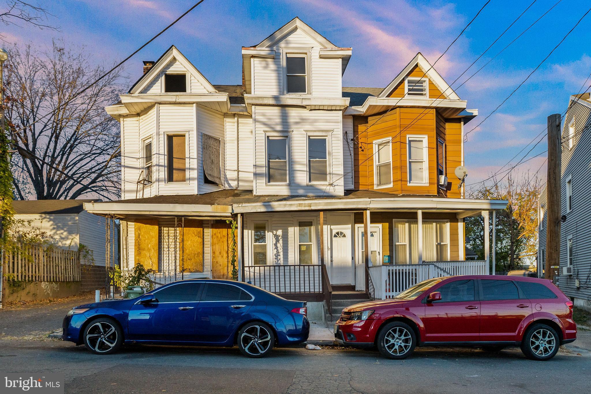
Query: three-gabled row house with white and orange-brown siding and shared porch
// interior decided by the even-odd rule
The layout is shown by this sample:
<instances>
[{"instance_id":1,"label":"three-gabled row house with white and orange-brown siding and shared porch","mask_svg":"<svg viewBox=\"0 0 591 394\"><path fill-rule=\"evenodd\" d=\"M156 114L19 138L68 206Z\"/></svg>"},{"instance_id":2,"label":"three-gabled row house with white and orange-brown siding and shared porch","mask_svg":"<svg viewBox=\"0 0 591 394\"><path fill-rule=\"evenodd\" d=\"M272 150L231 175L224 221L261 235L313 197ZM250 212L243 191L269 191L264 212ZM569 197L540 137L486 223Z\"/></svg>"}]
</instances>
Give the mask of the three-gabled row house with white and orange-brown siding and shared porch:
<instances>
[{"instance_id":1,"label":"three-gabled row house with white and orange-brown siding and shared porch","mask_svg":"<svg viewBox=\"0 0 591 394\"><path fill-rule=\"evenodd\" d=\"M121 219L124 269L229 278L235 255L239 280L329 303L330 289L384 298L488 273L464 261L463 219L506 201L463 198L455 171L477 111L420 53L383 89L343 87L351 54L294 18L242 47L239 85L211 84L174 46L144 62L106 108L122 200L86 204Z\"/></svg>"}]
</instances>

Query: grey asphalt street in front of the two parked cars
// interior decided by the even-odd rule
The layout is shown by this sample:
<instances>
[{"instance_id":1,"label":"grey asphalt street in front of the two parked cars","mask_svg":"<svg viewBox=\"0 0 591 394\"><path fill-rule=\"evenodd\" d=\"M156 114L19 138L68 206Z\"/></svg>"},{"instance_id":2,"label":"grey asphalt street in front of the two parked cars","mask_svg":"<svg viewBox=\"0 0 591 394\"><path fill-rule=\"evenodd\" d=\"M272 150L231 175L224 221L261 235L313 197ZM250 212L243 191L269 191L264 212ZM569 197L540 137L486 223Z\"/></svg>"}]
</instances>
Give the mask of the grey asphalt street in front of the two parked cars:
<instances>
[{"instance_id":1,"label":"grey asphalt street in front of the two parked cars","mask_svg":"<svg viewBox=\"0 0 591 394\"><path fill-rule=\"evenodd\" d=\"M573 347L548 362L525 359L518 349L489 354L447 347L420 348L404 361L377 351L301 347L274 349L264 359L243 357L236 347L132 346L99 356L30 335L40 331L31 322L45 329L70 307L0 310L0 371L63 372L67 393L591 392L591 353Z\"/></svg>"}]
</instances>

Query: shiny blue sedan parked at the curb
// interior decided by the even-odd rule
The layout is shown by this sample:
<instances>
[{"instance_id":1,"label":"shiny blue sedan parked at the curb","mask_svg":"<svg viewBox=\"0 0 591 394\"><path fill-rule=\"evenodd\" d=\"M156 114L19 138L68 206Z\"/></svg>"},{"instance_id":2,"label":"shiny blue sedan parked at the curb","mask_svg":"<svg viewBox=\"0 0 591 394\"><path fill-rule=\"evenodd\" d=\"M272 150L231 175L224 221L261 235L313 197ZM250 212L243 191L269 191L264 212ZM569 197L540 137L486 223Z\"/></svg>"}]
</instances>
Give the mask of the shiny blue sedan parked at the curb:
<instances>
[{"instance_id":1,"label":"shiny blue sedan parked at the curb","mask_svg":"<svg viewBox=\"0 0 591 394\"><path fill-rule=\"evenodd\" d=\"M122 344L238 345L248 357L303 343L306 302L290 301L242 282L177 281L138 298L80 305L63 322L63 340L110 354Z\"/></svg>"}]
</instances>

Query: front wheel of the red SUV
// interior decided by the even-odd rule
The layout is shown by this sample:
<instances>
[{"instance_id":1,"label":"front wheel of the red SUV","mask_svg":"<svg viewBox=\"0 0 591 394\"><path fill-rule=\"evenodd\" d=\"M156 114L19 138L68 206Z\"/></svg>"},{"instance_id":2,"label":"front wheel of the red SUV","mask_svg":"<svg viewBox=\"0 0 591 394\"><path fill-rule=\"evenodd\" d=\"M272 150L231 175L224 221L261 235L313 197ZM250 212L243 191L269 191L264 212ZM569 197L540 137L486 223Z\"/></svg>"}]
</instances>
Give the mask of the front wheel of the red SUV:
<instances>
[{"instance_id":1,"label":"front wheel of the red SUV","mask_svg":"<svg viewBox=\"0 0 591 394\"><path fill-rule=\"evenodd\" d=\"M410 325L401 321L386 324L378 334L378 350L389 359L402 360L413 353L417 336Z\"/></svg>"}]
</instances>

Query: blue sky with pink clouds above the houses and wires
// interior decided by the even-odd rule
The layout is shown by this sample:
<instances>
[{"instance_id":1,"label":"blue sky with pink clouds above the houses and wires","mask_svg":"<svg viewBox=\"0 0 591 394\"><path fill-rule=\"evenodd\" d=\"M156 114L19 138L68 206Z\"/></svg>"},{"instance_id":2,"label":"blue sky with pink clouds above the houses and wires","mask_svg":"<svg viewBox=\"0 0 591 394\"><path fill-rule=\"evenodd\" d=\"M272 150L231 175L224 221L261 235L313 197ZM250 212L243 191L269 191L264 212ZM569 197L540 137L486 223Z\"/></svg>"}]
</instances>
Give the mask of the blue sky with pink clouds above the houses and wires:
<instances>
[{"instance_id":1,"label":"blue sky with pink clouds above the houses and wires","mask_svg":"<svg viewBox=\"0 0 591 394\"><path fill-rule=\"evenodd\" d=\"M435 68L447 83L462 74L532 1L492 0L437 62ZM456 89L557 1L535 1L452 87ZM53 14L48 22L60 31L3 25L0 34L8 43L31 42L41 48L49 47L53 38L63 38L74 45L84 45L96 62L113 64L193 3L185 0L39 2ZM155 60L174 44L210 82L239 84L241 47L262 41L298 16L336 45L353 47L343 86L384 87L418 51L431 62L435 61L484 3L485 0L205 0L129 60L125 71L135 81L141 75L142 60ZM478 108L480 114L466 125L466 131L478 125L538 66L588 8L587 1L562 0L456 90L462 99L468 100L468 108ZM569 96L579 92L591 73L590 44L591 14L511 99L470 133L465 145L468 184L498 170L545 128L548 115L566 109ZM590 83L591 80L583 91ZM545 149L543 141L531 151L530 157ZM542 154L519 170L535 172L541 168L540 174L545 176L544 159Z\"/></svg>"}]
</instances>

